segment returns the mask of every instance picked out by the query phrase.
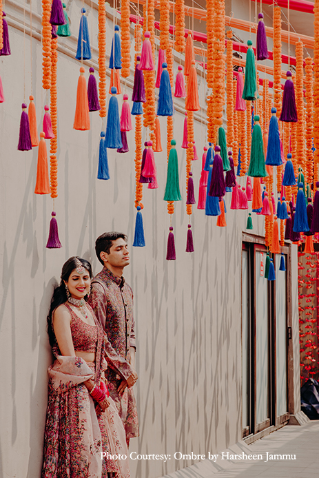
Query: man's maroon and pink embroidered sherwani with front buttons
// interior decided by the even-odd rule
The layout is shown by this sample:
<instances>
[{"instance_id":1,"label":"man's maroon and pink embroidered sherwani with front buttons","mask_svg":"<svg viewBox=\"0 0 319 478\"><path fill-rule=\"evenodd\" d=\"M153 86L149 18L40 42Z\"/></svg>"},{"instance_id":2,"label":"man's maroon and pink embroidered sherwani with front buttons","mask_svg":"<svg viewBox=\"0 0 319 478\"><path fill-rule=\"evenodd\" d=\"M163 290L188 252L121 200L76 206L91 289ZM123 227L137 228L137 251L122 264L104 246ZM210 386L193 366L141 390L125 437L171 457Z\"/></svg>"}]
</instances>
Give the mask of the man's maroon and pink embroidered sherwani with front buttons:
<instances>
[{"instance_id":1,"label":"man's maroon and pink embroidered sherwani with front buttons","mask_svg":"<svg viewBox=\"0 0 319 478\"><path fill-rule=\"evenodd\" d=\"M123 277L119 278L103 267L92 280L89 302L113 349L125 358L130 358L130 347L135 347L135 322L133 318L133 293ZM138 417L133 388L125 388L122 396L117 389L122 377L112 368L105 374L109 391L123 421L126 437L138 437Z\"/></svg>"}]
</instances>

